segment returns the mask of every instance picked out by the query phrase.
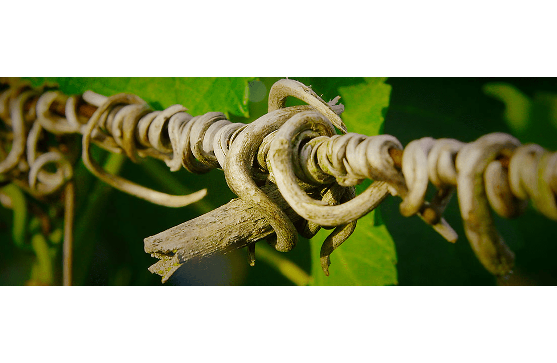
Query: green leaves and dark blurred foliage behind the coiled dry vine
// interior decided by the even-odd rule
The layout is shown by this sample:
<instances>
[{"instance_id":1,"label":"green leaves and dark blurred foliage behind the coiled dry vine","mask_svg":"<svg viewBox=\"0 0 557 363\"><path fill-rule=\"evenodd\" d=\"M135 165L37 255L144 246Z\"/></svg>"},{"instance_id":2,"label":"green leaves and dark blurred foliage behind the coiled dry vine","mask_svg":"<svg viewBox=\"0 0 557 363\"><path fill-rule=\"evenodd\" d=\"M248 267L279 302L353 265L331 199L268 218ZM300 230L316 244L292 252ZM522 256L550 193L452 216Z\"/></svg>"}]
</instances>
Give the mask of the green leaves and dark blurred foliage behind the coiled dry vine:
<instances>
[{"instance_id":1,"label":"green leaves and dark blurred foliage behind the coiled dry vine","mask_svg":"<svg viewBox=\"0 0 557 363\"><path fill-rule=\"evenodd\" d=\"M192 114L221 111L235 122L249 122L267 111L267 98L252 97L248 83L255 78L33 78L56 81L66 93L92 89L104 95L135 93L155 109L184 104ZM259 78L266 93L280 78ZM509 132L522 142L557 149L557 83L554 79L485 78L294 78L311 85L328 101L341 95L349 132L395 135L403 145L424 136L451 137L470 142L490 132ZM253 84L252 84L253 85ZM260 93L261 84L257 84ZM255 90L255 86L253 88ZM287 105L299 104L289 100ZM249 116L248 119L246 119ZM383 122L384 120L384 122ZM84 285L160 285L147 267L156 259L143 251L143 239L223 205L234 197L222 171L192 175L171 173L156 160L131 163L95 148L95 158L111 172L169 193L208 188L208 196L192 206L170 209L149 204L96 180L81 162L76 166L77 214L75 283ZM369 183L359 186L363 190ZM497 281L477 262L462 230L456 199L446 219L460 236L447 243L418 217L398 212L400 199L389 197L378 210L358 222L356 232L331 255L331 276L319 265L319 247L328 231L311 242L301 239L280 257L324 285L494 285ZM43 206L47 209L45 206ZM31 241L21 245L22 212L0 207L0 284L24 284L30 279L35 253ZM27 217L28 219L28 217ZM15 225L14 225L15 224ZM28 222L30 224L30 222ZM500 233L516 253L514 284L551 285L557 276L554 222L530 209L516 220L496 218ZM15 228L14 228L15 227ZM29 229L29 228L28 228ZM36 230L36 229L35 229ZM12 231L17 231L12 236ZM27 231L27 237L31 236ZM14 238L15 237L15 238ZM55 275L60 275L60 248L49 238ZM58 236L59 240L59 236ZM18 242L19 241L19 242ZM245 251L187 263L168 284L176 285L292 285L277 267L276 255L263 248L255 267ZM270 251L273 253L273 251ZM282 264L282 266L288 264ZM42 265L44 268L44 264ZM37 267L35 267L37 269ZM504 282L500 282L504 283ZM553 284L555 285L555 283Z\"/></svg>"}]
</instances>

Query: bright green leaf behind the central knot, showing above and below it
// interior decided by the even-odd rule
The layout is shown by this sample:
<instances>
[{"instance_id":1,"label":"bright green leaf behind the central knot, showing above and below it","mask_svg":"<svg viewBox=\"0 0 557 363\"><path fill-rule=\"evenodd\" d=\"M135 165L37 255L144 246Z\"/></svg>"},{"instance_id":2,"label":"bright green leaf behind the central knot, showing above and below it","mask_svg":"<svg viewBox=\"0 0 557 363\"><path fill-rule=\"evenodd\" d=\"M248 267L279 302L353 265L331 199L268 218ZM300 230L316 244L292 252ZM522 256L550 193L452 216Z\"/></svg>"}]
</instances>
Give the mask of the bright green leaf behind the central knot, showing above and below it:
<instances>
[{"instance_id":1,"label":"bright green leaf behind the central knot, showing above and below it","mask_svg":"<svg viewBox=\"0 0 557 363\"><path fill-rule=\"evenodd\" d=\"M365 78L365 83L340 87L339 92L346 109L342 118L349 132L377 135L382 131L390 96L385 78ZM358 193L364 189L363 185L356 187ZM354 233L331 254L330 275L326 277L319 251L328 233L320 230L310 241L314 285L398 284L394 241L379 210L359 219Z\"/></svg>"}]
</instances>

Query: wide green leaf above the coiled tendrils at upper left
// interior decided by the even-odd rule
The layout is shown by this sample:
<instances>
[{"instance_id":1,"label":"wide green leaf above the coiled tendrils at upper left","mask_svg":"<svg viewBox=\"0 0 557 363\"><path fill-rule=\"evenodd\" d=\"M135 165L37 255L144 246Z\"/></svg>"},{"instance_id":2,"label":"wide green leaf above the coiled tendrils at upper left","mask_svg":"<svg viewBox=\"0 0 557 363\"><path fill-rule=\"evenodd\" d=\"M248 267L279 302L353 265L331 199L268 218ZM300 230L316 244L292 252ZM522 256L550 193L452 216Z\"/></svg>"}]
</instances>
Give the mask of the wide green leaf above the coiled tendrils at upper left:
<instances>
[{"instance_id":1,"label":"wide green leaf above the coiled tendrils at upper left","mask_svg":"<svg viewBox=\"0 0 557 363\"><path fill-rule=\"evenodd\" d=\"M218 111L248 117L247 87L254 77L29 77L34 86L57 83L66 94L86 90L133 93L155 109L184 105L192 115Z\"/></svg>"}]
</instances>

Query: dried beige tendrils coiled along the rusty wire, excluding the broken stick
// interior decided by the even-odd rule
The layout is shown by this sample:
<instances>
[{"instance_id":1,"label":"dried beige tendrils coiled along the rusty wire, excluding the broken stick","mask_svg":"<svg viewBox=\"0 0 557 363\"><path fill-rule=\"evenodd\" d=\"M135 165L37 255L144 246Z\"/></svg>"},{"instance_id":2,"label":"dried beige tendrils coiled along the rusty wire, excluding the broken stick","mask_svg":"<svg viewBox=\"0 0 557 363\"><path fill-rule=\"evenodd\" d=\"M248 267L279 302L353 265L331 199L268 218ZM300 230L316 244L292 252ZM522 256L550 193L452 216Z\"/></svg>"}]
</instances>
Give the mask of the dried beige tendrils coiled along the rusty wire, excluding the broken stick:
<instances>
[{"instance_id":1,"label":"dried beige tendrils coiled along the rusty wire, excluding the broken stick","mask_svg":"<svg viewBox=\"0 0 557 363\"><path fill-rule=\"evenodd\" d=\"M289 96L307 105L285 107ZM504 133L468 144L426 137L403 148L391 135L346 133L339 117L344 107L338 100L326 103L307 86L280 80L270 90L268 113L246 125L232 123L218 112L193 117L182 105L153 111L130 94L105 97L87 91L67 96L57 90L7 84L0 94L4 123L0 175L37 197L56 195L65 188L66 199L72 199L76 157L62 151L63 143L58 143L58 149L46 146L45 133L80 135L81 157L95 176L164 206L188 205L206 191L168 195L111 175L92 158L91 143L125 153L133 161L161 159L171 171L184 167L205 173L221 168L231 190L272 226L274 233L267 241L275 249L288 251L299 234L311 237L322 226L334 228L321 248L326 274L333 250L354 231L356 221L389 194L402 199L402 215L419 215L454 242L457 235L442 214L456 191L468 240L482 264L498 276L511 272L514 255L497 233L490 209L515 217L531 199L542 214L557 220L557 153L534 144L522 146ZM54 165L54 171L47 171L47 165ZM354 186L365 179L374 182L356 196ZM437 191L426 201L429 182ZM269 183L278 187L302 222L292 222L262 190ZM71 204L65 213L71 245ZM248 248L251 262L254 249L255 243ZM71 255L70 247L67 251Z\"/></svg>"}]
</instances>

